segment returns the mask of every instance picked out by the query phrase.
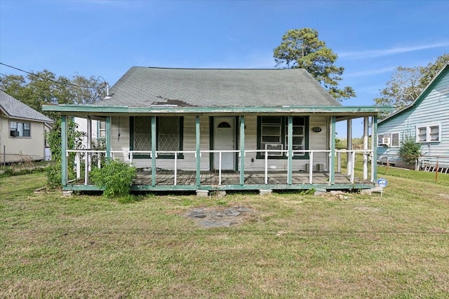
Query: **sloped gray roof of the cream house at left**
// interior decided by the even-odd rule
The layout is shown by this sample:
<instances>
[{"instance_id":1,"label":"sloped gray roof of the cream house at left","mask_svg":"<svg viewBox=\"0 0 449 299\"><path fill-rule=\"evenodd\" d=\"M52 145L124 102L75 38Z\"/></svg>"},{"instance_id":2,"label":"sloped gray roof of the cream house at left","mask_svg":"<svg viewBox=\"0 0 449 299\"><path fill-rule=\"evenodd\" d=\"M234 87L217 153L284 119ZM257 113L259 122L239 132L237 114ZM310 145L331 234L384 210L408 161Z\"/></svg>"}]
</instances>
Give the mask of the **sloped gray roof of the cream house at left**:
<instances>
[{"instance_id":1,"label":"sloped gray roof of the cream house at left","mask_svg":"<svg viewBox=\"0 0 449 299\"><path fill-rule=\"evenodd\" d=\"M0 109L10 118L24 118L28 120L39 121L43 123L53 123L51 118L44 116L39 111L23 104L18 99L11 97L0 90Z\"/></svg>"}]
</instances>

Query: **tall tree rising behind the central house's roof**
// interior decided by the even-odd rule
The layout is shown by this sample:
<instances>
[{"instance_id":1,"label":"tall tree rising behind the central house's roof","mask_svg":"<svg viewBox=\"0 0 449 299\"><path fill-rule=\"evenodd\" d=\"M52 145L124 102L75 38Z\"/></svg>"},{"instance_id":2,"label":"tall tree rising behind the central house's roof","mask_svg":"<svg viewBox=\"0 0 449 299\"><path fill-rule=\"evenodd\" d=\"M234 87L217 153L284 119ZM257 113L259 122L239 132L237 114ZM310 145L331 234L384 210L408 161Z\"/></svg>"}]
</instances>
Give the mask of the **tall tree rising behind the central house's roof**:
<instances>
[{"instance_id":1,"label":"tall tree rising behind the central house's roof","mask_svg":"<svg viewBox=\"0 0 449 299\"><path fill-rule=\"evenodd\" d=\"M290 29L282 36L281 45L273 50L276 67L285 64L291 69L305 69L335 99L355 97L349 86L338 88L342 80L343 67L334 65L337 54L318 39L318 31L311 28Z\"/></svg>"}]
</instances>

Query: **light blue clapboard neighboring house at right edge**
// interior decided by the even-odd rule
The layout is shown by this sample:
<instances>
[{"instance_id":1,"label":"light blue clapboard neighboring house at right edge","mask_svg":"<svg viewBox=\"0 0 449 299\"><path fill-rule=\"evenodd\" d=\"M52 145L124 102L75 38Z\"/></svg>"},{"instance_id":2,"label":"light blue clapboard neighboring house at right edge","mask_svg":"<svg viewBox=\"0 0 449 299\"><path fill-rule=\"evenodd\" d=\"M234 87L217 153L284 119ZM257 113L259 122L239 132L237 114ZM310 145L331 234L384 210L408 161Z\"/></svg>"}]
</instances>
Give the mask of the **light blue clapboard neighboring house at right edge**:
<instances>
[{"instance_id":1,"label":"light blue clapboard neighboring house at right edge","mask_svg":"<svg viewBox=\"0 0 449 299\"><path fill-rule=\"evenodd\" d=\"M377 161L397 162L402 141L412 138L421 144L420 166L440 171L449 168L449 64L446 64L415 101L377 127ZM396 158L394 158L396 157Z\"/></svg>"}]
</instances>

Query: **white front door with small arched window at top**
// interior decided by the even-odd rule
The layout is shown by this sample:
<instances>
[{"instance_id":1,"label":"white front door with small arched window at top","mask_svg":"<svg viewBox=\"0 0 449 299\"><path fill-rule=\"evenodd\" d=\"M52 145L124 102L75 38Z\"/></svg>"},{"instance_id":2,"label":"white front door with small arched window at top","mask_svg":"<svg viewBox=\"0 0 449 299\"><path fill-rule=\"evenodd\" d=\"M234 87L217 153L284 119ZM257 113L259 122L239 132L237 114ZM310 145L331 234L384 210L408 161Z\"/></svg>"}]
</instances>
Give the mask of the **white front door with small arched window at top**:
<instances>
[{"instance_id":1,"label":"white front door with small arched window at top","mask_svg":"<svg viewBox=\"0 0 449 299\"><path fill-rule=\"evenodd\" d=\"M213 148L215 151L235 150L235 122L233 117L214 118ZM222 152L222 170L234 169L235 153ZM220 167L220 153L213 155L213 167Z\"/></svg>"}]
</instances>

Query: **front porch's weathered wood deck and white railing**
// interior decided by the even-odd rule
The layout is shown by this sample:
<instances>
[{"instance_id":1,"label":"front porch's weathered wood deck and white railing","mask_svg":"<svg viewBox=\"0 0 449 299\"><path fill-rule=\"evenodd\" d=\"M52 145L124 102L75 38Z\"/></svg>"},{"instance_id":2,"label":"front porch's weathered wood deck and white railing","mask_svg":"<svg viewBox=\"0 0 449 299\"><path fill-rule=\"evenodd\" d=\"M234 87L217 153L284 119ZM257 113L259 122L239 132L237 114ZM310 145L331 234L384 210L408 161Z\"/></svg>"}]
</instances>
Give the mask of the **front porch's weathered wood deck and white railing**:
<instances>
[{"instance_id":1,"label":"front porch's weathered wood deck and white railing","mask_svg":"<svg viewBox=\"0 0 449 299\"><path fill-rule=\"evenodd\" d=\"M65 190L100 190L89 181L91 167L102 167L101 162L106 157L106 151L93 150L67 150L76 153L76 180L67 182L63 188ZM206 156L217 152L219 155L218 165L221 165L222 151L200 151L199 155L194 155L193 151L173 152L177 157L180 153L192 160L196 157ZM245 155L250 155L254 151L244 151ZM154 163L149 167L138 169L136 178L133 181L131 190L135 191L194 191L194 190L354 190L370 189L375 186L375 163L373 164L373 151L367 150L336 150L332 151L307 151L309 160L304 164L300 160L290 160L291 167L286 169L272 169L269 166L268 151L265 151L264 167L262 169L252 169L250 167L240 167L238 170L203 169L201 163L197 169L181 169L177 165L177 158L173 160L173 168L164 169L156 166L156 158L152 158ZM156 152L156 155L165 152ZM236 152L237 153L237 152ZM319 154L329 155L329 169L321 169L314 162L314 156ZM111 151L111 158L115 155L123 155L121 151ZM133 155L135 151L129 151L130 165L133 165ZM166 153L165 153L166 154ZM294 151L293 151L294 155ZM362 157L364 168L371 169L370 173L365 173L361 178L355 176L354 166L356 165L356 155ZM84 157L84 158L81 158ZM87 159L86 159L87 157ZM93 159L95 157L95 159ZM350 168L342 172L342 157L348 157L349 163L345 163ZM365 158L363 158L365 157ZM96 160L97 165L92 161ZM344 161L346 162L346 161ZM314 165L309 167L309 165ZM305 166L305 167L304 167ZM290 171L291 169L291 171ZM82 176L82 174L84 174Z\"/></svg>"}]
</instances>

